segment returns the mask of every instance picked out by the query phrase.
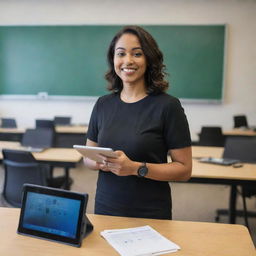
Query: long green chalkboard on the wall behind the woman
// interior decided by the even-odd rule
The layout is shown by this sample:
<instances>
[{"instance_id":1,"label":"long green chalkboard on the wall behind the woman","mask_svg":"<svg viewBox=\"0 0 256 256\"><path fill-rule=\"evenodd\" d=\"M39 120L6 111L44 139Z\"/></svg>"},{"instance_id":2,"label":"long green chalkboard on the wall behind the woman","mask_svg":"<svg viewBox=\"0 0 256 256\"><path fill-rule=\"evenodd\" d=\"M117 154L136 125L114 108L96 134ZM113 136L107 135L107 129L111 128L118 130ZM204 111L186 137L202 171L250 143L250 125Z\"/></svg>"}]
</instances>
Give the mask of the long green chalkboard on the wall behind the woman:
<instances>
[{"instance_id":1,"label":"long green chalkboard on the wall behind the woman","mask_svg":"<svg viewBox=\"0 0 256 256\"><path fill-rule=\"evenodd\" d=\"M157 40L169 92L220 100L224 25L143 26ZM0 94L100 96L107 93L106 52L121 26L1 26Z\"/></svg>"}]
</instances>

